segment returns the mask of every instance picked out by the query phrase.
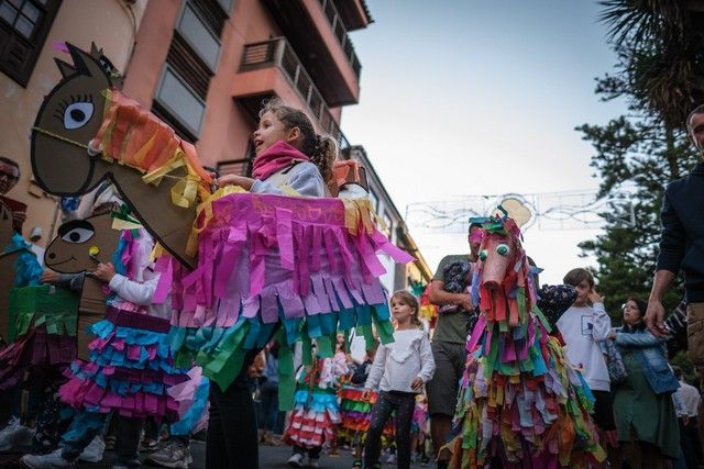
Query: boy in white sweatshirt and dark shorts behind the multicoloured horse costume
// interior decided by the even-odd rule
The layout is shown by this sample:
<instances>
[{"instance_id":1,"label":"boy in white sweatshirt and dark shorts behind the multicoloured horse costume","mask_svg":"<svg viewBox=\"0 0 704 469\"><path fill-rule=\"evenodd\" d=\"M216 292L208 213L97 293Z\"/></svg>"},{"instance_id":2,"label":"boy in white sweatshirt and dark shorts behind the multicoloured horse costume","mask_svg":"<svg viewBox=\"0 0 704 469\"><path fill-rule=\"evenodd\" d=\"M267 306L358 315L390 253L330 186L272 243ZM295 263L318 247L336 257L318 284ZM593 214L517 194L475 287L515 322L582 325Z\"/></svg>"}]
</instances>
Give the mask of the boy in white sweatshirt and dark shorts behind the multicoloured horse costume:
<instances>
[{"instance_id":1,"label":"boy in white sweatshirt and dark shorts behind the multicoloured horse costume","mask_svg":"<svg viewBox=\"0 0 704 469\"><path fill-rule=\"evenodd\" d=\"M593 417L603 434L616 428L608 370L598 344L606 340L612 321L588 270L572 269L564 276L563 282L576 289L576 300L558 320L558 330L566 344L568 359L582 368L584 380L594 393Z\"/></svg>"}]
</instances>

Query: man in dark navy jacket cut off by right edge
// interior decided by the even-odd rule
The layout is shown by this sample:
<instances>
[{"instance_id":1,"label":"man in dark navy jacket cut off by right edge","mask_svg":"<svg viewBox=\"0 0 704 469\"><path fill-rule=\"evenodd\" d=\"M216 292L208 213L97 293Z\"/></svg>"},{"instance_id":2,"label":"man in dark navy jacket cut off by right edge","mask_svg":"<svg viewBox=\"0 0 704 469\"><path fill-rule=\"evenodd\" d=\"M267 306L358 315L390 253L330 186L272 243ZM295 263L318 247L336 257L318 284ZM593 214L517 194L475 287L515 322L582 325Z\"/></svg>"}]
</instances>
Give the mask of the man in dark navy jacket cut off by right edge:
<instances>
[{"instance_id":1,"label":"man in dark navy jacket cut off by right edge","mask_svg":"<svg viewBox=\"0 0 704 469\"><path fill-rule=\"evenodd\" d=\"M692 111L686 121L694 146L704 155L704 105ZM646 323L656 336L668 334L664 325L662 297L675 276L684 272L686 292L688 346L692 362L704 366L704 163L698 163L689 176L668 185L660 219L662 232L660 253L652 290L648 301Z\"/></svg>"}]
</instances>

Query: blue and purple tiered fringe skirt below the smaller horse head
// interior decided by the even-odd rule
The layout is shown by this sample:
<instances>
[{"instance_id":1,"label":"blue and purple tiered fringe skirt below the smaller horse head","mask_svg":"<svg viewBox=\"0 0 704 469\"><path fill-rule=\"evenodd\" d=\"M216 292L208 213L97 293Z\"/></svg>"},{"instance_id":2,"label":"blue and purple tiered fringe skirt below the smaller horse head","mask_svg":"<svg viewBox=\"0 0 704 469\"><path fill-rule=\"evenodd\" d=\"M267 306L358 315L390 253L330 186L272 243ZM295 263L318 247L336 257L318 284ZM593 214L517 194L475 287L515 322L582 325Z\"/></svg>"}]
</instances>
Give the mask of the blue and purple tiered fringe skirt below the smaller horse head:
<instances>
[{"instance_id":1,"label":"blue and purple tiered fringe skirt below the smaller horse head","mask_svg":"<svg viewBox=\"0 0 704 469\"><path fill-rule=\"evenodd\" d=\"M169 330L168 320L109 308L106 319L91 326L90 361L76 360L66 370L62 400L94 413L166 417L174 422L172 429L177 425L177 433L189 432L205 412L208 380L174 366Z\"/></svg>"}]
</instances>

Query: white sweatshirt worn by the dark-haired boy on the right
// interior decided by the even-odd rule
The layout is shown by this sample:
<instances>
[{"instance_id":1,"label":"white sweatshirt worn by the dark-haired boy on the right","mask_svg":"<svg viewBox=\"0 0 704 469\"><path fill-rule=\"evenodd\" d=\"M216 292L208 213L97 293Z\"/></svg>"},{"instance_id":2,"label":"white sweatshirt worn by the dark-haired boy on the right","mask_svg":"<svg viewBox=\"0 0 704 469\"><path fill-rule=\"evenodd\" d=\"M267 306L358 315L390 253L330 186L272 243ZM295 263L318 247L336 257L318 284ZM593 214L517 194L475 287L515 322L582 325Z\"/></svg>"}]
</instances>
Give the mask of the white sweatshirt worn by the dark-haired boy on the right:
<instances>
[{"instance_id":1,"label":"white sweatshirt worn by the dark-haired boy on the right","mask_svg":"<svg viewBox=\"0 0 704 469\"><path fill-rule=\"evenodd\" d=\"M583 368L584 380L594 391L609 391L606 360L598 343L606 340L612 320L603 303L593 306L571 306L558 320L568 360Z\"/></svg>"}]
</instances>

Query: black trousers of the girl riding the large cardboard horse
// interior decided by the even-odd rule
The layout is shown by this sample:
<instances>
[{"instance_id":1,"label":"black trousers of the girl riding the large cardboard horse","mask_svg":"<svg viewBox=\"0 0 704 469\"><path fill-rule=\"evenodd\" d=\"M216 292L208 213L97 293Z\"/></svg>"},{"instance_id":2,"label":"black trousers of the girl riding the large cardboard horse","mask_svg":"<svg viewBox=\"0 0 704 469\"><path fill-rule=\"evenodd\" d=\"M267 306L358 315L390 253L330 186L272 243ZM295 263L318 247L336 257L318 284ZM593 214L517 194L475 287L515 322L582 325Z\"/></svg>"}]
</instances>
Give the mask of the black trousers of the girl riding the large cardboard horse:
<instances>
[{"instance_id":1,"label":"black trousers of the girl riding the large cardboard horse","mask_svg":"<svg viewBox=\"0 0 704 469\"><path fill-rule=\"evenodd\" d=\"M251 361L250 361L251 362ZM210 422L206 446L208 469L256 469L256 412L246 379L248 360L242 372L222 391L210 383Z\"/></svg>"}]
</instances>

